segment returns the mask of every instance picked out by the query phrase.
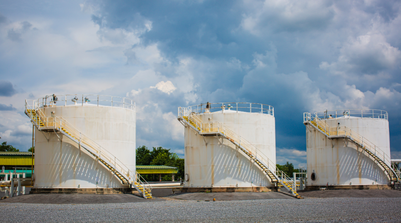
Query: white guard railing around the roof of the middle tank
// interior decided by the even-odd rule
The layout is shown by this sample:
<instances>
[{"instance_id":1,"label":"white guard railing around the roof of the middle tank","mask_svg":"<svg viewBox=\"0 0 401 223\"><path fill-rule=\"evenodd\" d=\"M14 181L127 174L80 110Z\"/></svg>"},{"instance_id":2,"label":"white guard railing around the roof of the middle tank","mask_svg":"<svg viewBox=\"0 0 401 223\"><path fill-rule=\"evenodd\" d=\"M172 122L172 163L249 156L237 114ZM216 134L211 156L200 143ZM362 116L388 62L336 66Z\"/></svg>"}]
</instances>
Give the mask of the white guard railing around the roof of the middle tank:
<instances>
[{"instance_id":1,"label":"white guard railing around the roof of the middle tank","mask_svg":"<svg viewBox=\"0 0 401 223\"><path fill-rule=\"evenodd\" d=\"M231 110L238 112L248 113L260 113L267 114L274 117L274 108L271 105L259 104L259 103L246 103L246 102L225 102L225 103L207 103L200 105L192 105L188 107L191 113L213 113L218 111Z\"/></svg>"}]
</instances>

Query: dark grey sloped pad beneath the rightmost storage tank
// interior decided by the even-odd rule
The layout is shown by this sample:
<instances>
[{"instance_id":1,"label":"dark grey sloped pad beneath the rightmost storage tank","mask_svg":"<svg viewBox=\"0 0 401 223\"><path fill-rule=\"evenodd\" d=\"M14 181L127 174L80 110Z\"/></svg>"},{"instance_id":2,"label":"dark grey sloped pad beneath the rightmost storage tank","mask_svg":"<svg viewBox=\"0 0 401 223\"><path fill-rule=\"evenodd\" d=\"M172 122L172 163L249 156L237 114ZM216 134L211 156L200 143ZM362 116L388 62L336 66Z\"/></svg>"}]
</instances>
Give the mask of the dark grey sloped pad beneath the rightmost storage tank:
<instances>
[{"instance_id":1,"label":"dark grey sloped pad beneath the rightmost storage tank","mask_svg":"<svg viewBox=\"0 0 401 223\"><path fill-rule=\"evenodd\" d=\"M401 197L400 190L309 190L298 191L303 197Z\"/></svg>"}]
</instances>

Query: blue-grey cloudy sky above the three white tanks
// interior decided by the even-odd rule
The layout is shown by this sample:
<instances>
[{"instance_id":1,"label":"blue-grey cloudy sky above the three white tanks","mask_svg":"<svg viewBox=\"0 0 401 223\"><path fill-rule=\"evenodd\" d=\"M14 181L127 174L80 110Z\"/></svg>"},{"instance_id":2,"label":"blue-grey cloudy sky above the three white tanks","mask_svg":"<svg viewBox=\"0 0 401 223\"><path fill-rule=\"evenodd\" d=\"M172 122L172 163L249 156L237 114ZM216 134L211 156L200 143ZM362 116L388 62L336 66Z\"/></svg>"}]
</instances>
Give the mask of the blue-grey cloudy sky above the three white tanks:
<instances>
[{"instance_id":1,"label":"blue-grey cloudy sky above the three white tanks","mask_svg":"<svg viewBox=\"0 0 401 223\"><path fill-rule=\"evenodd\" d=\"M303 112L389 113L401 158L400 1L0 2L0 142L31 146L25 99L128 97L137 146L183 155L178 106L272 105L277 162L306 163Z\"/></svg>"}]
</instances>

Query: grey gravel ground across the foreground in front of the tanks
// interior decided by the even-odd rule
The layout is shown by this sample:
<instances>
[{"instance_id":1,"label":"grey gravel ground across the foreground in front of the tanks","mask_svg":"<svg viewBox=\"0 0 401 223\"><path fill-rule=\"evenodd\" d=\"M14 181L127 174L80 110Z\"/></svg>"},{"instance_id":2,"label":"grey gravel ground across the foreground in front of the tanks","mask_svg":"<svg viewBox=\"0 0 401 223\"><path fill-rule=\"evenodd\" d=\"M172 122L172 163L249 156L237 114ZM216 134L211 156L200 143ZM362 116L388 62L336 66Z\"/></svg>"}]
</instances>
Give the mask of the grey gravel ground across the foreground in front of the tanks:
<instances>
[{"instance_id":1,"label":"grey gravel ground across the foreground in front of the tanks","mask_svg":"<svg viewBox=\"0 0 401 223\"><path fill-rule=\"evenodd\" d=\"M109 204L0 203L5 222L400 222L401 198L306 198Z\"/></svg>"}]
</instances>

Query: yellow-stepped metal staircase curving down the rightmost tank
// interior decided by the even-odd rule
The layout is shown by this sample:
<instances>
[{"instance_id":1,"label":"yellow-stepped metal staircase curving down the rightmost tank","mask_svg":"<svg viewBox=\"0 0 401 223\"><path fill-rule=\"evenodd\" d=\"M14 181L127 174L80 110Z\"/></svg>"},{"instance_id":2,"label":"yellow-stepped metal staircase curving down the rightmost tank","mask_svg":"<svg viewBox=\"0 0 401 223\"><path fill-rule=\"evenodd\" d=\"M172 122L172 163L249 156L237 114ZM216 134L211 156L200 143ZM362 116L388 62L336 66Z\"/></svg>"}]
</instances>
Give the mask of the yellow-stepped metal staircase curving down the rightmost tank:
<instances>
[{"instance_id":1,"label":"yellow-stepped metal staircase curving down the rightmost tank","mask_svg":"<svg viewBox=\"0 0 401 223\"><path fill-rule=\"evenodd\" d=\"M355 131L352 131L346 126L330 127L323 119L320 119L317 115L313 117L310 113L304 113L304 124L313 126L328 139L345 138L351 140L351 142L362 148L363 151L370 155L374 161L383 168L391 181L398 181L396 172L391 168L390 157L388 157L379 147Z\"/></svg>"}]
</instances>

